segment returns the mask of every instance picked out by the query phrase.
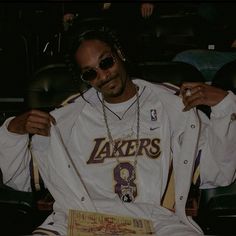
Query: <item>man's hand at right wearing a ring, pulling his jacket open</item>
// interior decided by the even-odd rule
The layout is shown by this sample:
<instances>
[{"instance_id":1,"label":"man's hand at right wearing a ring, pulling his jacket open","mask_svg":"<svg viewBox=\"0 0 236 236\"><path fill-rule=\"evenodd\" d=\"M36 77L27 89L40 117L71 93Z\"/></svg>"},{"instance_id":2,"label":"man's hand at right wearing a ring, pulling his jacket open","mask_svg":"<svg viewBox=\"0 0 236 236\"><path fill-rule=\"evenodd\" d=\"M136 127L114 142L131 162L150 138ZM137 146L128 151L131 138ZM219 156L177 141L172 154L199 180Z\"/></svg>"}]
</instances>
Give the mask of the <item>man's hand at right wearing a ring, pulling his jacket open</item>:
<instances>
[{"instance_id":1,"label":"man's hand at right wearing a ring, pulling his jacket open","mask_svg":"<svg viewBox=\"0 0 236 236\"><path fill-rule=\"evenodd\" d=\"M180 94L188 111L198 105L215 106L228 94L227 91L204 83L186 82L180 88Z\"/></svg>"}]
</instances>

